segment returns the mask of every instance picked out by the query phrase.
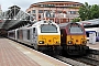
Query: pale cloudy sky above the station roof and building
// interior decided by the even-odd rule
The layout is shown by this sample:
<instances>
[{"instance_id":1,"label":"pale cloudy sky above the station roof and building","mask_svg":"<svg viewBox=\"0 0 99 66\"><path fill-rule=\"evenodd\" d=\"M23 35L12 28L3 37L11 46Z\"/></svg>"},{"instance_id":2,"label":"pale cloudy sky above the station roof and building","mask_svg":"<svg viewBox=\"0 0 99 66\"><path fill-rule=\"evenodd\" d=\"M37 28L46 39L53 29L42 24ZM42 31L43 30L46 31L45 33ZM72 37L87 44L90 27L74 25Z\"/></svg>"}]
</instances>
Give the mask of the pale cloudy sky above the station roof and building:
<instances>
[{"instance_id":1,"label":"pale cloudy sky above the station roof and building","mask_svg":"<svg viewBox=\"0 0 99 66\"><path fill-rule=\"evenodd\" d=\"M61 1L61 0L0 0L2 11L7 11L9 7L18 6L21 10L25 11L31 4L43 1ZM62 0L62 1L75 1L89 4L99 4L99 0Z\"/></svg>"}]
</instances>

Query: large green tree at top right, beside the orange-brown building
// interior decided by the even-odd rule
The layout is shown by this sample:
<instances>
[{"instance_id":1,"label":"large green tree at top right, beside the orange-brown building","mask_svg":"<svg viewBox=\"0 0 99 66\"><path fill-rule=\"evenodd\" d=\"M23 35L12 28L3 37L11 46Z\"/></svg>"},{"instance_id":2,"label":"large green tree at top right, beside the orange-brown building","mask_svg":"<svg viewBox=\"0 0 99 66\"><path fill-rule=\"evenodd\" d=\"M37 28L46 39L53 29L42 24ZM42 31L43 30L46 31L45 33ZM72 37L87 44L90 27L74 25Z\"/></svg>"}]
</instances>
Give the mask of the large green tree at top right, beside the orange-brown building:
<instances>
[{"instance_id":1,"label":"large green tree at top right, beside the orange-brown building","mask_svg":"<svg viewBox=\"0 0 99 66\"><path fill-rule=\"evenodd\" d=\"M89 6L87 2L85 2L85 4L80 7L78 13L79 13L79 18L82 21L98 19L99 18L99 6L98 4Z\"/></svg>"}]
</instances>

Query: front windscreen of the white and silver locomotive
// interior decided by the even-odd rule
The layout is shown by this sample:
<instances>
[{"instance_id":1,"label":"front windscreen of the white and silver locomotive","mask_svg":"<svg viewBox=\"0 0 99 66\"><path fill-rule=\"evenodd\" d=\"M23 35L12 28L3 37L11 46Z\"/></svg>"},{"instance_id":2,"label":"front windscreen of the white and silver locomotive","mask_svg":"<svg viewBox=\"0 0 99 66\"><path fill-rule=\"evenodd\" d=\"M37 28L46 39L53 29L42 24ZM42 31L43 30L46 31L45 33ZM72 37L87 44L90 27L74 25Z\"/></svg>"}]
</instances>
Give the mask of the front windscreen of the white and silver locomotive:
<instances>
[{"instance_id":1,"label":"front windscreen of the white and silver locomotive","mask_svg":"<svg viewBox=\"0 0 99 66\"><path fill-rule=\"evenodd\" d=\"M53 24L43 24L41 25L41 33L57 33L57 28Z\"/></svg>"}]
</instances>

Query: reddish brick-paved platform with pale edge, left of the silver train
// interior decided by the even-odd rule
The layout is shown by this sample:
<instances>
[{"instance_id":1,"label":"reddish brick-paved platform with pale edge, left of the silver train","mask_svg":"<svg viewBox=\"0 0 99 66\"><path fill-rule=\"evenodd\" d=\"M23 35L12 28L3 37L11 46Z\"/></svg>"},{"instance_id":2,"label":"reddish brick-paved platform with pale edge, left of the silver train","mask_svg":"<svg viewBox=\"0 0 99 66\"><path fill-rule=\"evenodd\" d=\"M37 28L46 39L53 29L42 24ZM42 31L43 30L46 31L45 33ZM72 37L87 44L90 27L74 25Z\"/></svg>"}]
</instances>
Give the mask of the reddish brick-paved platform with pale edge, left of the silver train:
<instances>
[{"instance_id":1,"label":"reddish brick-paved platform with pale edge, left of the silver train","mask_svg":"<svg viewBox=\"0 0 99 66\"><path fill-rule=\"evenodd\" d=\"M0 66L70 66L8 38L0 38Z\"/></svg>"}]
</instances>

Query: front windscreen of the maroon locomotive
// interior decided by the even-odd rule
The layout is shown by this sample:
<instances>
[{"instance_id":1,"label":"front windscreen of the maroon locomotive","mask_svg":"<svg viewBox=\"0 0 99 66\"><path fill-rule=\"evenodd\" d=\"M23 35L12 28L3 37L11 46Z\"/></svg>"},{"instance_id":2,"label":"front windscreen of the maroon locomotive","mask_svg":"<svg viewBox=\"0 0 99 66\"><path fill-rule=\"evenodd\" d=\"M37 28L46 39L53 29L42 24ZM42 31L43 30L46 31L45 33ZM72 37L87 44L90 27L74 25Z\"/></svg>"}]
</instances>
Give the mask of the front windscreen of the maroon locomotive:
<instances>
[{"instance_id":1,"label":"front windscreen of the maroon locomotive","mask_svg":"<svg viewBox=\"0 0 99 66\"><path fill-rule=\"evenodd\" d=\"M68 29L69 29L69 33L72 33L72 34L74 34L74 33L82 34L84 33L82 28L77 23L70 24Z\"/></svg>"}]
</instances>

